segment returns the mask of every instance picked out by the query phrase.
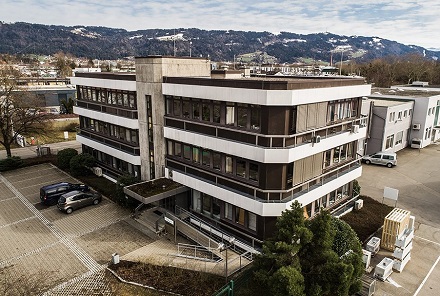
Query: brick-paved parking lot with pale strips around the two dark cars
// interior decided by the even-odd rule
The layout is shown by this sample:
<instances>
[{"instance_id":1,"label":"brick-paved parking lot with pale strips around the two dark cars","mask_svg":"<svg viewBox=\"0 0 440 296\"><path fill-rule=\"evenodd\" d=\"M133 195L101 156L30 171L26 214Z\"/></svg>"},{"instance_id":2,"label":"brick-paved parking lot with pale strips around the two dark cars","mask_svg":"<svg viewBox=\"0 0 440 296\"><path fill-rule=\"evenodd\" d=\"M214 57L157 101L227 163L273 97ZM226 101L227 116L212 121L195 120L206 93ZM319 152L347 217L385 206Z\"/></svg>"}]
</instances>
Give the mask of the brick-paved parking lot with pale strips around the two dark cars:
<instances>
[{"instance_id":1,"label":"brick-paved parking lot with pale strips around the two dark cars","mask_svg":"<svg viewBox=\"0 0 440 296\"><path fill-rule=\"evenodd\" d=\"M152 240L105 197L70 215L42 205L40 187L61 181L78 183L50 164L0 174L0 287L23 284L26 295L111 295L102 281L111 255Z\"/></svg>"}]
</instances>

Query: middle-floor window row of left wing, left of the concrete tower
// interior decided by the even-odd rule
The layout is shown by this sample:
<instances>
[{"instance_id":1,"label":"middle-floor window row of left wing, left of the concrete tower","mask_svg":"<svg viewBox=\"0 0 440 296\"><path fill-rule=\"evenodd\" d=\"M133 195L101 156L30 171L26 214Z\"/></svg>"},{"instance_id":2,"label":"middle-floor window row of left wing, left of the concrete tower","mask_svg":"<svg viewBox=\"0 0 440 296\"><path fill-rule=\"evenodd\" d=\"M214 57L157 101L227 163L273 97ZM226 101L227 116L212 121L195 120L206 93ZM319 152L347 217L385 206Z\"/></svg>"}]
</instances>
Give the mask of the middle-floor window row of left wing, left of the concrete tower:
<instances>
[{"instance_id":1,"label":"middle-floor window row of left wing, left of the concrete tower","mask_svg":"<svg viewBox=\"0 0 440 296\"><path fill-rule=\"evenodd\" d=\"M104 136L117 138L125 142L139 145L139 131L137 130L128 129L88 117L81 117L80 127L93 130Z\"/></svg>"}]
</instances>

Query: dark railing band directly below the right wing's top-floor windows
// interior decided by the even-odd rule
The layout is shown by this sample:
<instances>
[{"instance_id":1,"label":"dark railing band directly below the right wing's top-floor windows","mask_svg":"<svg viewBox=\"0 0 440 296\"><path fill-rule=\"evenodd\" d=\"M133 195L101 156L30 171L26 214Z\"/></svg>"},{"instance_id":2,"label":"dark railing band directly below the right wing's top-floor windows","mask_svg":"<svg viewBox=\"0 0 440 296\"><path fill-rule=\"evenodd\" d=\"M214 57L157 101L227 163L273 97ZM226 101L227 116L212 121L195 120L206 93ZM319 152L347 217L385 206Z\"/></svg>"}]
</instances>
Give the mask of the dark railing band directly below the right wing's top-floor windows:
<instances>
[{"instance_id":1,"label":"dark railing band directly below the right wing's top-floor windows","mask_svg":"<svg viewBox=\"0 0 440 296\"><path fill-rule=\"evenodd\" d=\"M312 143L316 136L328 138L343 132L354 131L355 126L365 127L365 118L357 118L344 122L332 123L329 126L293 134L293 135L264 135L247 130L213 125L212 123L196 122L182 118L165 116L165 126L184 131L228 139L235 142L260 146L264 148L293 148Z\"/></svg>"}]
</instances>

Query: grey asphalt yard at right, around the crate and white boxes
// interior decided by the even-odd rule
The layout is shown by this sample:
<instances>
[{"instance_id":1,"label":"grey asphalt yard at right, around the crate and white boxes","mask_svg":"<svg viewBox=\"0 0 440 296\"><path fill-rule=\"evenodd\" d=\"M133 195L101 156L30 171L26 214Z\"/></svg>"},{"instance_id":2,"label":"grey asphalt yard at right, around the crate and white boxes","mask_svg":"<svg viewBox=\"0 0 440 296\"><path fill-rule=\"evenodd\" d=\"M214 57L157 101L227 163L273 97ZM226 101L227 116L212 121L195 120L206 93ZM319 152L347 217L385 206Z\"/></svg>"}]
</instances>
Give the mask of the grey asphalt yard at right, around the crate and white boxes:
<instances>
[{"instance_id":1,"label":"grey asphalt yard at right, around the crate and white boxes","mask_svg":"<svg viewBox=\"0 0 440 296\"><path fill-rule=\"evenodd\" d=\"M375 295L428 296L440 294L440 146L404 149L397 153L397 166L387 168L363 165L358 179L361 194L383 200L384 186L399 190L397 207L411 211L416 229L411 260L401 272L393 272L390 280L377 282ZM385 199L386 204L395 201ZM392 258L391 252L380 251L372 261Z\"/></svg>"}]
</instances>

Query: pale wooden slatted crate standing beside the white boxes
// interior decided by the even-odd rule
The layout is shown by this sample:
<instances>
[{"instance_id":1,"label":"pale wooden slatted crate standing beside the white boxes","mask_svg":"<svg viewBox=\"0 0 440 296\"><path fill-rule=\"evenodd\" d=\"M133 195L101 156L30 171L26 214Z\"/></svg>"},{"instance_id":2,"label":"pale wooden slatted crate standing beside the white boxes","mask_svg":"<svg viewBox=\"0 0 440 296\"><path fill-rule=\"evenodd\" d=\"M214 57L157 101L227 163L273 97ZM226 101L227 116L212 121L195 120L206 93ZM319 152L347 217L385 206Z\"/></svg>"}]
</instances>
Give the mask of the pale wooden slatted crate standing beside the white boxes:
<instances>
[{"instance_id":1,"label":"pale wooden slatted crate standing beside the white boxes","mask_svg":"<svg viewBox=\"0 0 440 296\"><path fill-rule=\"evenodd\" d=\"M393 252L396 239L410 224L410 211L394 208L384 219L381 247Z\"/></svg>"}]
</instances>

